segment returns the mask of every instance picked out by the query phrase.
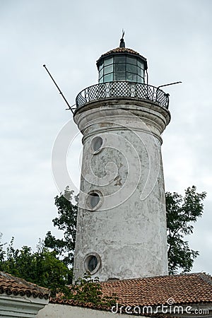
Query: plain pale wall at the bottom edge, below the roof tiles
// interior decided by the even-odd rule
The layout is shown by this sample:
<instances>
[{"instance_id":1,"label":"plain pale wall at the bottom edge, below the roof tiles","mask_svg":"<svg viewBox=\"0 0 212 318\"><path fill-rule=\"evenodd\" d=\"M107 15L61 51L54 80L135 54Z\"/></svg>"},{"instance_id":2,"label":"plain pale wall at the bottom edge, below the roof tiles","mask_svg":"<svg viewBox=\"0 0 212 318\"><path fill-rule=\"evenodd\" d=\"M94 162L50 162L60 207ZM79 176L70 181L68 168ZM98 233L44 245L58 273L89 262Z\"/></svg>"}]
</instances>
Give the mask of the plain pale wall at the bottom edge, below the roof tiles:
<instances>
[{"instance_id":1,"label":"plain pale wall at the bottom edge, below the roof tiles","mask_svg":"<svg viewBox=\"0 0 212 318\"><path fill-rule=\"evenodd\" d=\"M49 304L37 314L37 318L112 318L121 316L123 317L123 314L113 314L112 312L102 310L57 304ZM124 314L126 318L131 316L131 314ZM143 316L139 317L142 318Z\"/></svg>"}]
</instances>

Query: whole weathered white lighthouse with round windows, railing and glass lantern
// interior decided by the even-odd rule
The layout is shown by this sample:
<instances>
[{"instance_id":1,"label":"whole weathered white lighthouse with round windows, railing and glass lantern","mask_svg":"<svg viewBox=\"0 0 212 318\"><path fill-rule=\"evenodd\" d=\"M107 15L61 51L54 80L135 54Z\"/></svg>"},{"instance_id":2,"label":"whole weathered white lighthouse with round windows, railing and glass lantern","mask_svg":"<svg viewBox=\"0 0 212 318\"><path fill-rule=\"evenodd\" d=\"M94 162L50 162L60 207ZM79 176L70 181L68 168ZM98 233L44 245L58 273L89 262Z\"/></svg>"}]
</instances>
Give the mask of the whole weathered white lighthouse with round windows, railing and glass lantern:
<instances>
[{"instance_id":1,"label":"whole weathered white lighthouse with round windows, railing and glass lantern","mask_svg":"<svg viewBox=\"0 0 212 318\"><path fill-rule=\"evenodd\" d=\"M73 115L83 134L74 276L166 275L168 94L148 84L146 58L123 37L97 66L99 83L78 94Z\"/></svg>"}]
</instances>

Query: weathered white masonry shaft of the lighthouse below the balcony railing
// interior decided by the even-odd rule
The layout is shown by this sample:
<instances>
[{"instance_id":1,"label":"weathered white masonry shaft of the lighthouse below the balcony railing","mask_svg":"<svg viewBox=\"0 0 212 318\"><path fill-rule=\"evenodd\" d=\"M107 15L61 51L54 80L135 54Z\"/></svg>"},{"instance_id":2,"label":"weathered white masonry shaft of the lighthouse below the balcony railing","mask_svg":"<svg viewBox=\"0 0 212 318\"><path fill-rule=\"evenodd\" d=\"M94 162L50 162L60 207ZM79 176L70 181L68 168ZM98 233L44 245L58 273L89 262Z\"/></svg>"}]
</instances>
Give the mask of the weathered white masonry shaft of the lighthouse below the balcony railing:
<instances>
[{"instance_id":1,"label":"weathered white masonry shaft of the lighthouse below the balcony railing","mask_svg":"<svg viewBox=\"0 0 212 318\"><path fill-rule=\"evenodd\" d=\"M160 134L167 110L148 102L93 102L76 113L83 133L76 276L86 259L99 258L93 277L136 278L167 274L165 192ZM102 147L93 151L93 138ZM100 195L89 208L88 193Z\"/></svg>"}]
</instances>

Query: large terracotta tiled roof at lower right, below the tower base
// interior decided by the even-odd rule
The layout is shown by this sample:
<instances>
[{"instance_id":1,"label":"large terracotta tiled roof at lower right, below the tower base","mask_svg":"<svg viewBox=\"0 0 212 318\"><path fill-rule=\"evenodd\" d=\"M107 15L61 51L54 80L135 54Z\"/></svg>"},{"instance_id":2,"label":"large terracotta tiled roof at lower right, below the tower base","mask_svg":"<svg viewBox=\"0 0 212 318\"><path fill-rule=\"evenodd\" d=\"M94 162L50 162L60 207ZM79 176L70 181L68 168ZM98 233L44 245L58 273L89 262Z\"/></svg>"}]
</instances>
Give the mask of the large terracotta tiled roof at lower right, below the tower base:
<instances>
[{"instance_id":1,"label":"large terracotta tiled roof at lower right, below the tower base","mask_svg":"<svg viewBox=\"0 0 212 318\"><path fill-rule=\"evenodd\" d=\"M212 278L205 273L102 282L103 295L116 293L122 305L148 306L212 302Z\"/></svg>"}]
</instances>

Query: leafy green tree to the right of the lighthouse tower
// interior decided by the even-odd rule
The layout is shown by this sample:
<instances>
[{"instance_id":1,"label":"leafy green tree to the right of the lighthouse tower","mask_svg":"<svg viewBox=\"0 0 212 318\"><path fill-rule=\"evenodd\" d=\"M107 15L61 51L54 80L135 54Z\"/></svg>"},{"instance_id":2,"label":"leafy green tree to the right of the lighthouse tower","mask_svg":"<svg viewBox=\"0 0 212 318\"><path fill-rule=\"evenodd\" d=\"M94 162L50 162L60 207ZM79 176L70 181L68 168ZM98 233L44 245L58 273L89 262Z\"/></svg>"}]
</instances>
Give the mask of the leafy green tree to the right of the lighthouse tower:
<instances>
[{"instance_id":1,"label":"leafy green tree to the right of the lighthouse tower","mask_svg":"<svg viewBox=\"0 0 212 318\"><path fill-rule=\"evenodd\" d=\"M195 223L204 211L203 200L206 192L196 192L196 187L188 187L184 197L176 192L166 192L167 212L167 256L169 273L175 274L180 270L184 273L191 271L198 251L189 248L184 241L185 235L193 233Z\"/></svg>"}]
</instances>

